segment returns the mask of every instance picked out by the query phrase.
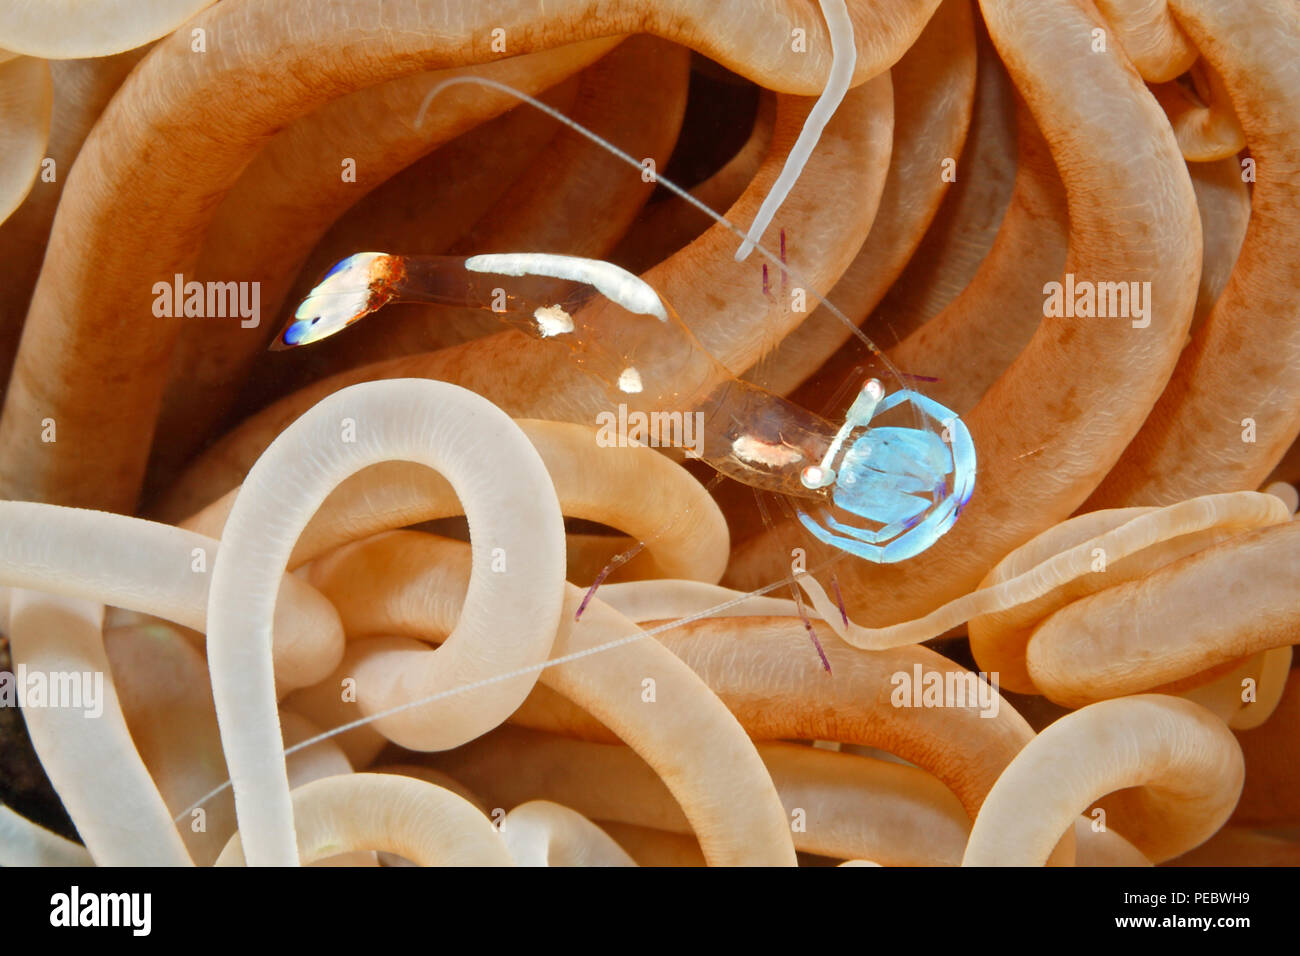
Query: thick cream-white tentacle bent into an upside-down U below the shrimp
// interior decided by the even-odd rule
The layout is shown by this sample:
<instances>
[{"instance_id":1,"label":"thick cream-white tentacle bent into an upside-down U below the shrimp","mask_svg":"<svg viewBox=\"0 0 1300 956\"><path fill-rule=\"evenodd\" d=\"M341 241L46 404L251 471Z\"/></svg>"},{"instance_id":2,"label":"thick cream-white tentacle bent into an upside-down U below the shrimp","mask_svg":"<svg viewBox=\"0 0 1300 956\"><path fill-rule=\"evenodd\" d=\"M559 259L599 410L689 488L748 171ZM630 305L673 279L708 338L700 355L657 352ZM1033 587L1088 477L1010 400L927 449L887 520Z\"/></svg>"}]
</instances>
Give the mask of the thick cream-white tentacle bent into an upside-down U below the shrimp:
<instances>
[{"instance_id":1,"label":"thick cream-white tentacle bent into an upside-down U below the shrimp","mask_svg":"<svg viewBox=\"0 0 1300 956\"><path fill-rule=\"evenodd\" d=\"M404 415L395 408L408 407ZM417 411L416 411L417 410ZM351 428L351 432L348 431ZM351 437L350 437L351 436ZM485 472L478 453L510 447L511 467ZM334 485L378 460L442 471L482 522L467 613L448 640L437 680L498 678L545 659L563 600L563 524L537 453L499 410L455 386L428 381L359 385L333 395L287 429L250 472L222 532L208 601L208 665L235 810L251 864L295 864L292 812L280 744L270 658L276 592L294 541ZM508 515L508 518L507 518ZM514 558L495 572L493 555ZM493 635L510 633L508 643ZM250 636L251 635L251 636ZM494 653L486 653L491 645ZM536 675L500 680L474 710L445 714L441 745L454 747L504 719Z\"/></svg>"}]
</instances>

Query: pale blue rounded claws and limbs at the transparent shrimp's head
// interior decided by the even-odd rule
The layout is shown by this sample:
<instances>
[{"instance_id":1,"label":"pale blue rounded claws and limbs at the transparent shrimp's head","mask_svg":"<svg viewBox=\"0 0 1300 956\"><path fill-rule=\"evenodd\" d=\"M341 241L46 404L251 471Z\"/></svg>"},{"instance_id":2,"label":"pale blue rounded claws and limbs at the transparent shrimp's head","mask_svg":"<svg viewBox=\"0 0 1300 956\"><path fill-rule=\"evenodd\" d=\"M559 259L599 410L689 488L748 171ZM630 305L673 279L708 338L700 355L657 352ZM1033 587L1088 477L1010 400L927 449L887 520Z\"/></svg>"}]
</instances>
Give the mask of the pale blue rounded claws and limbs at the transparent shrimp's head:
<instances>
[{"instance_id":1,"label":"pale blue rounded claws and limbs at the transparent shrimp's head","mask_svg":"<svg viewBox=\"0 0 1300 956\"><path fill-rule=\"evenodd\" d=\"M975 442L953 411L904 389L876 405L871 419L904 402L945 429L948 441L920 428L871 428L870 419L850 423L850 429L866 432L842 453L837 467L826 470L835 475L835 507L876 527L848 524L826 505L812 514L798 509L800 522L819 541L878 564L906 561L935 544L975 490Z\"/></svg>"}]
</instances>

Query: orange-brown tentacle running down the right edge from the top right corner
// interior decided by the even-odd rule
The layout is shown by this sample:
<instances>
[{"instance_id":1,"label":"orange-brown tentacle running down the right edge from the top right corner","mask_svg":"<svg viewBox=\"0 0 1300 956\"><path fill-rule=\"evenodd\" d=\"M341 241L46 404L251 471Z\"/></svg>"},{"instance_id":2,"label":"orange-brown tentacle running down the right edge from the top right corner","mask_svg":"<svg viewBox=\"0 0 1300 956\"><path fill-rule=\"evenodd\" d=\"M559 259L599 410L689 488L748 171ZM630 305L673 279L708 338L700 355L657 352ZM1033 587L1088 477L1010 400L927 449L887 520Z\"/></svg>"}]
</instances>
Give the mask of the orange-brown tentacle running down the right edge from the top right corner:
<instances>
[{"instance_id":1,"label":"orange-brown tentacle running down the right edge from the top right corner","mask_svg":"<svg viewBox=\"0 0 1300 956\"><path fill-rule=\"evenodd\" d=\"M1088 507L1258 488L1300 433L1300 10L1287 0L1231 16L1212 0L1170 9L1242 118L1251 222L1227 286ZM1187 460L1196 467L1176 467Z\"/></svg>"}]
</instances>

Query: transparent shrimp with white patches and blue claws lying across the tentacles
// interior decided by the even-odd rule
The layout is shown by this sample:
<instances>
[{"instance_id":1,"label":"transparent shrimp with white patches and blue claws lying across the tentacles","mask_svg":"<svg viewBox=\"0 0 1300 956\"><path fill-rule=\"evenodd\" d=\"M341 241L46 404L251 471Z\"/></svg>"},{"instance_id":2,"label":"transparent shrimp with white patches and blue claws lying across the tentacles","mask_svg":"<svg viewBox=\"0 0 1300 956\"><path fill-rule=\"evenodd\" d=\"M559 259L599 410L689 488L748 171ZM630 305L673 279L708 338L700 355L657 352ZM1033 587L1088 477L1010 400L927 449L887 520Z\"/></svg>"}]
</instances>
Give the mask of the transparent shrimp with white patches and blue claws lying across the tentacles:
<instances>
[{"instance_id":1,"label":"transparent shrimp with white patches and blue claws lying across the tentacles","mask_svg":"<svg viewBox=\"0 0 1300 956\"><path fill-rule=\"evenodd\" d=\"M607 307L592 308L597 298ZM733 376L649 284L601 260L359 252L325 274L272 347L309 345L398 302L488 310L541 347L567 350L623 406L620 416L640 412L656 436L667 429L670 440L655 444L688 447L783 497L814 537L866 561L926 550L974 492L974 442L950 410L872 376L832 423ZM625 313L618 325L588 320L610 308Z\"/></svg>"}]
</instances>

